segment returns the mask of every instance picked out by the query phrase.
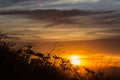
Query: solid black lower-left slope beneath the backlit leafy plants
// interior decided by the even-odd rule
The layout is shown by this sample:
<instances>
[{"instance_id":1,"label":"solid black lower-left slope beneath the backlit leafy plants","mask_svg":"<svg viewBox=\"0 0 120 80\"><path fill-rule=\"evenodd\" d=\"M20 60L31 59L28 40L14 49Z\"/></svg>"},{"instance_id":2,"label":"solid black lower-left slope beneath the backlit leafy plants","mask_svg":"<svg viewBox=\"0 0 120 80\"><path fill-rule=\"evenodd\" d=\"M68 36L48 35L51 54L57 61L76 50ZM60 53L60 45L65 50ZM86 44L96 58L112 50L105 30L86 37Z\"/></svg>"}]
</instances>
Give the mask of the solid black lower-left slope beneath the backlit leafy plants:
<instances>
[{"instance_id":1,"label":"solid black lower-left slope beneath the backlit leafy plants","mask_svg":"<svg viewBox=\"0 0 120 80\"><path fill-rule=\"evenodd\" d=\"M63 74L52 69L29 64L6 43L0 43L0 78L3 80L64 80Z\"/></svg>"}]
</instances>

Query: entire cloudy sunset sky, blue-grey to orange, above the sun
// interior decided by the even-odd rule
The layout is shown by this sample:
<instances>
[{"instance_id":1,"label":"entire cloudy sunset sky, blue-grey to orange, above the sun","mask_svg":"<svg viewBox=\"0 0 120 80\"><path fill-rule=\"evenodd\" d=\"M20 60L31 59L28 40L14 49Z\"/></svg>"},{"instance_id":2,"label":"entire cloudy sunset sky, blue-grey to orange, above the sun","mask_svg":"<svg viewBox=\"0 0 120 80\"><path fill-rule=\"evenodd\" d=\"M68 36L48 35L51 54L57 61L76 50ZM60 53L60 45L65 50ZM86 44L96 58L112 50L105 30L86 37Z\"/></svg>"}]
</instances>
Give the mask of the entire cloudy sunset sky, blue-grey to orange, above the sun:
<instances>
[{"instance_id":1,"label":"entire cloudy sunset sky, blue-grey to orange, above the sun","mask_svg":"<svg viewBox=\"0 0 120 80\"><path fill-rule=\"evenodd\" d=\"M57 54L120 56L119 7L119 0L0 0L0 38L44 53L58 42Z\"/></svg>"}]
</instances>

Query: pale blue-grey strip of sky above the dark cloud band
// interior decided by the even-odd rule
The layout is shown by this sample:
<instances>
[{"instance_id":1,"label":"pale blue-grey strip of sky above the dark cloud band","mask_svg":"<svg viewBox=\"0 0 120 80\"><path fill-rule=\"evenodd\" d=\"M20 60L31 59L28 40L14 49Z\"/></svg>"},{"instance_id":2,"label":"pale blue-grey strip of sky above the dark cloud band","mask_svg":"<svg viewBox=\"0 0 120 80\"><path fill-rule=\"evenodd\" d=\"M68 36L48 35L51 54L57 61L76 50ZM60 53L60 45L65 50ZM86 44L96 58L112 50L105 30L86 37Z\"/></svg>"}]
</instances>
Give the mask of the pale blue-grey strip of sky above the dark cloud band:
<instances>
[{"instance_id":1,"label":"pale blue-grey strip of sky above the dark cloud band","mask_svg":"<svg viewBox=\"0 0 120 80\"><path fill-rule=\"evenodd\" d=\"M0 0L0 10L14 9L112 9L118 10L120 0Z\"/></svg>"}]
</instances>

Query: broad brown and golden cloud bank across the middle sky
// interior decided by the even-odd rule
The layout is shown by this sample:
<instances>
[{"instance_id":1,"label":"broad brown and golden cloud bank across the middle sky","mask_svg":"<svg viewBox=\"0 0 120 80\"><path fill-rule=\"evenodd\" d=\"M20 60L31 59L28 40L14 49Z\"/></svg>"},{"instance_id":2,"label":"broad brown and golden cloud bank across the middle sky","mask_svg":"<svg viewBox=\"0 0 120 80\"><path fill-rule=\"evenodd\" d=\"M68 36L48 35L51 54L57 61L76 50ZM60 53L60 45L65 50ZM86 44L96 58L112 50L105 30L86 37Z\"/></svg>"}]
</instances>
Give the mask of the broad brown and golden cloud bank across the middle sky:
<instances>
[{"instance_id":1,"label":"broad brown and golden cloud bank across the middle sky","mask_svg":"<svg viewBox=\"0 0 120 80\"><path fill-rule=\"evenodd\" d=\"M0 16L0 28L2 31L13 32L9 36L24 40L75 41L119 37L120 27L116 24L97 23L101 20L96 17L113 16L113 13L81 10L37 10L20 13L15 11L8 12L14 14L12 16L7 13L7 16L5 13ZM8 27L10 29L6 29Z\"/></svg>"}]
</instances>

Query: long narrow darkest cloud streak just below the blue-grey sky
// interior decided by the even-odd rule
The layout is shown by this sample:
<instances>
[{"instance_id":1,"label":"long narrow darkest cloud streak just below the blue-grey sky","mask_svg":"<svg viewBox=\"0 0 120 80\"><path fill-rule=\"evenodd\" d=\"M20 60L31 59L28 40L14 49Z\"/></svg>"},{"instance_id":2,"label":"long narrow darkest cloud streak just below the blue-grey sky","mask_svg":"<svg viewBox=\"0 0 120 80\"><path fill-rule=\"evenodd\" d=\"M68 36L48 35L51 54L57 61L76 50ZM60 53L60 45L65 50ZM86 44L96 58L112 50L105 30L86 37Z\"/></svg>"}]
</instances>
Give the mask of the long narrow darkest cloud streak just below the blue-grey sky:
<instances>
[{"instance_id":1,"label":"long narrow darkest cloud streak just below the blue-grey sky","mask_svg":"<svg viewBox=\"0 0 120 80\"><path fill-rule=\"evenodd\" d=\"M67 15L88 15L88 14L98 14L98 13L111 13L114 12L112 10L108 11L90 11L90 10L57 10L57 9L38 9L38 10L8 10L8 11L0 11L0 15L19 15L19 14L67 14ZM68 14L69 13L69 14Z\"/></svg>"}]
</instances>

